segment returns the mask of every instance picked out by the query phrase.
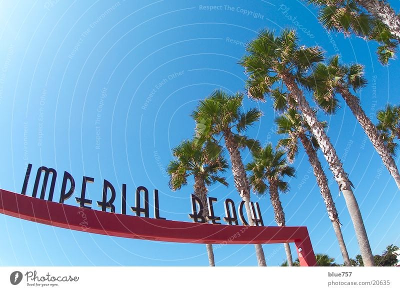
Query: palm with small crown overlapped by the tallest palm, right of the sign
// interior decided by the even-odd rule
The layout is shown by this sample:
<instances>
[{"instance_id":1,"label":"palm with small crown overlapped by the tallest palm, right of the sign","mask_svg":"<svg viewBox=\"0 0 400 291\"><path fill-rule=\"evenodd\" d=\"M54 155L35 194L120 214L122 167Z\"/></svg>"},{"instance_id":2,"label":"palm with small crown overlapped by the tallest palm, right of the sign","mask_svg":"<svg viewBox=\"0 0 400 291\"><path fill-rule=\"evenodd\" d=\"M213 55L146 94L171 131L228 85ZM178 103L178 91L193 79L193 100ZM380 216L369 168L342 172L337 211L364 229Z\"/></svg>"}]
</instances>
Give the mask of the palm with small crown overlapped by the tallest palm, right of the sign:
<instances>
[{"instance_id":1,"label":"palm with small crown overlapped by the tallest palm, right of the sign","mask_svg":"<svg viewBox=\"0 0 400 291\"><path fill-rule=\"evenodd\" d=\"M337 209L330 193L328 179L323 171L321 162L319 161L316 153L318 144L315 138L312 136L309 126L302 121L300 114L294 109L288 109L287 112L275 118L275 123L277 125L276 133L286 134L288 136L287 138L280 139L278 145L282 145L286 149L289 162L292 162L297 154L298 140L300 140L302 146L304 147L308 161L312 166L323 202L325 203L326 212L330 221L332 222L332 226L339 243L340 252L343 257L344 265L349 266L350 258L344 243L343 234L341 233Z\"/></svg>"}]
</instances>

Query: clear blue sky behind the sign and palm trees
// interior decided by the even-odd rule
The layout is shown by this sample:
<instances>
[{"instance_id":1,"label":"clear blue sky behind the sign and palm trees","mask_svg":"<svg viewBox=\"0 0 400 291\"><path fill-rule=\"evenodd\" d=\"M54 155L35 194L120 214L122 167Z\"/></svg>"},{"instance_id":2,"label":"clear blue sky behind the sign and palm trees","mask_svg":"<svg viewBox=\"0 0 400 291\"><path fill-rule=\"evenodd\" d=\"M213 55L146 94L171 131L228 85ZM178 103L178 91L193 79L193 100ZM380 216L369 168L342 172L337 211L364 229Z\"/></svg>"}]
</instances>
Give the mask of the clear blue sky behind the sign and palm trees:
<instances>
[{"instance_id":1,"label":"clear blue sky behind the sign and palm trees","mask_svg":"<svg viewBox=\"0 0 400 291\"><path fill-rule=\"evenodd\" d=\"M209 10L208 5L217 7ZM92 200L100 199L104 178L114 185L117 197L126 183L130 204L137 186L156 188L161 216L189 221L191 184L176 192L168 188L165 168L171 148L191 137L194 122L188 114L199 99L215 88L243 91L245 75L237 61L244 43L264 27L296 28L301 44L318 44L326 56L340 53L345 62L365 65L369 83L359 96L367 115L373 117L387 102L398 103L399 61L381 66L375 43L327 33L315 9L302 1L36 0L1 1L0 7L0 188L11 191L20 191L30 162L33 169L54 167L59 176L70 172L78 189L83 175L94 177L87 187ZM342 105L335 116L320 113L320 118L329 122L328 135L355 185L372 251L380 253L388 244L400 244L400 195ZM244 106L264 112L248 135L275 144L271 101L245 99ZM248 152L242 156L250 160ZM297 176L289 181L291 191L281 195L286 224L307 226L314 251L342 262L301 150L294 166ZM352 223L327 167L326 172L344 240L354 257L358 247ZM214 186L209 191L218 198L214 209L220 216L225 198L239 202L231 174L226 177L228 188ZM55 199L60 188L58 178ZM264 223L275 225L269 198L252 199L259 201ZM66 203L77 206L74 198ZM93 208L98 209L95 204ZM107 237L5 215L0 215L0 233L1 265L208 264L201 244ZM264 252L268 265L285 258L280 244L264 245ZM217 247L214 255L216 265L256 265L252 245Z\"/></svg>"}]
</instances>

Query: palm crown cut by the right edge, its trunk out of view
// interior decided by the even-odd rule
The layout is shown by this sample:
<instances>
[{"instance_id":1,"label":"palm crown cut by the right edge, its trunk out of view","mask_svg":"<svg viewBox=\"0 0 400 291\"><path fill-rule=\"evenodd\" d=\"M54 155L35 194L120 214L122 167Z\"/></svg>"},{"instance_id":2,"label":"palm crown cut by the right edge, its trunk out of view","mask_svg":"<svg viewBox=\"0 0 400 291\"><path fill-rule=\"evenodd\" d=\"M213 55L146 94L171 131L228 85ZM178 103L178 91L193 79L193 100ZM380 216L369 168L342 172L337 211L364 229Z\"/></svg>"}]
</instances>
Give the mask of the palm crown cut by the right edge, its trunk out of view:
<instances>
[{"instance_id":1,"label":"palm crown cut by the right edge, its trunk out of view","mask_svg":"<svg viewBox=\"0 0 400 291\"><path fill-rule=\"evenodd\" d=\"M387 104L384 109L376 112L378 134L390 153L395 156L398 144L394 139L400 139L400 106Z\"/></svg>"}]
</instances>

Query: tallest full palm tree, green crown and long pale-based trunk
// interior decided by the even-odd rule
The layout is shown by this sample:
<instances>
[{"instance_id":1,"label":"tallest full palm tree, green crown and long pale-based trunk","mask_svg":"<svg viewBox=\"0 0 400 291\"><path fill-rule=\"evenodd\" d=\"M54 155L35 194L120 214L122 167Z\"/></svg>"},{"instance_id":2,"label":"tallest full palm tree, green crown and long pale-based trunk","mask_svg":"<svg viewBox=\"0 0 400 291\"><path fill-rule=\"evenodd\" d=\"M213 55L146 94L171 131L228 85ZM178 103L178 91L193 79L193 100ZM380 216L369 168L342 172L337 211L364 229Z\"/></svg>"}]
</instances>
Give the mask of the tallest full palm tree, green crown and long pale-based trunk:
<instances>
[{"instance_id":1,"label":"tallest full palm tree, green crown and long pale-based trunk","mask_svg":"<svg viewBox=\"0 0 400 291\"><path fill-rule=\"evenodd\" d=\"M258 37L247 45L246 50L249 55L243 56L240 64L248 73L246 85L249 95L263 100L264 94L270 94L274 97L274 102L287 104L289 101L290 106L295 106L301 112L329 164L339 190L343 192L364 264L374 265L365 226L351 188L352 183L323 125L316 118L315 112L297 84L305 78L305 72L308 69L323 60L322 51L316 46L299 46L293 30L283 30L276 37L274 31L267 29L261 30ZM272 86L278 85L278 82L281 84L272 89ZM288 91L289 98L287 99L284 97L286 94L282 93L283 85Z\"/></svg>"}]
</instances>

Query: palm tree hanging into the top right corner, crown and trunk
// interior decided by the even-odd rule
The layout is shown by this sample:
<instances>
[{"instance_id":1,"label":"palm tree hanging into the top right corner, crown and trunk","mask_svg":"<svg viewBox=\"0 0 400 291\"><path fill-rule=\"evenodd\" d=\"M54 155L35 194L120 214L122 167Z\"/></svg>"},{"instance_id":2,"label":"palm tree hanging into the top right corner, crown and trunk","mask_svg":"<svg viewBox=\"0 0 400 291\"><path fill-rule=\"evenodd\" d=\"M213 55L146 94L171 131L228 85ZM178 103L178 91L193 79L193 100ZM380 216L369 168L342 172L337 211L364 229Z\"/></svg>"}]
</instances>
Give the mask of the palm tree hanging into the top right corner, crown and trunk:
<instances>
[{"instance_id":1,"label":"palm tree hanging into the top right corner, crown and trunk","mask_svg":"<svg viewBox=\"0 0 400 291\"><path fill-rule=\"evenodd\" d=\"M319 8L318 19L330 31L376 40L382 64L394 58L400 42L400 17L382 0L306 0Z\"/></svg>"}]
</instances>

